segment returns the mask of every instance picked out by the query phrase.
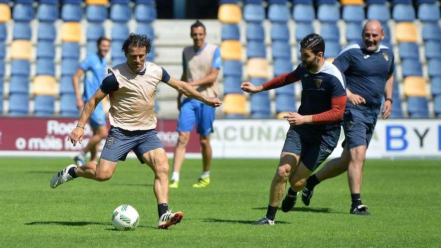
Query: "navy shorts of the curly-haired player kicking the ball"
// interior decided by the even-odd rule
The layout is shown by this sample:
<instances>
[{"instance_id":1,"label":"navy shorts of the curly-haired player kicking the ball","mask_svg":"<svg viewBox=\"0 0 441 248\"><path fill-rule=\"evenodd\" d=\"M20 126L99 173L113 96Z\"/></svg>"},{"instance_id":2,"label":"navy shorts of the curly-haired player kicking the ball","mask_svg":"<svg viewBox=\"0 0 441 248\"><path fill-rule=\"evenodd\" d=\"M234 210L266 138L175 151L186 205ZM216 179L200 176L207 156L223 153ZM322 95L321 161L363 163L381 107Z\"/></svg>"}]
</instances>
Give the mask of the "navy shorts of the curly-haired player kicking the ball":
<instances>
[{"instance_id":1,"label":"navy shorts of the curly-haired player kicking the ball","mask_svg":"<svg viewBox=\"0 0 441 248\"><path fill-rule=\"evenodd\" d=\"M111 162L124 161L130 150L133 150L139 162L143 164L142 155L144 153L156 148L164 149L157 134L155 129L128 131L112 126L101 158Z\"/></svg>"}]
</instances>

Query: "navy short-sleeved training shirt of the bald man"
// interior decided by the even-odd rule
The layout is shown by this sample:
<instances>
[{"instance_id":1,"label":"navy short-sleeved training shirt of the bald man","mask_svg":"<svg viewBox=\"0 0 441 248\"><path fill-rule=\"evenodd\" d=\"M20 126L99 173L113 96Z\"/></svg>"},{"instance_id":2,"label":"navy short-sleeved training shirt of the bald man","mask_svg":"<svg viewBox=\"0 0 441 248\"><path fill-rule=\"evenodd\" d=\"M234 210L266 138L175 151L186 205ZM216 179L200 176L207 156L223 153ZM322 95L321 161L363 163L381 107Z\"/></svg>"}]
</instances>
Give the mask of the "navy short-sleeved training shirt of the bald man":
<instances>
[{"instance_id":1,"label":"navy short-sleeved training shirt of the bald man","mask_svg":"<svg viewBox=\"0 0 441 248\"><path fill-rule=\"evenodd\" d=\"M366 107L377 109L388 75L394 70L393 51L380 45L376 52L368 52L363 43L349 45L334 60L334 65L346 76L347 88L366 100ZM354 107L347 103L346 108Z\"/></svg>"}]
</instances>

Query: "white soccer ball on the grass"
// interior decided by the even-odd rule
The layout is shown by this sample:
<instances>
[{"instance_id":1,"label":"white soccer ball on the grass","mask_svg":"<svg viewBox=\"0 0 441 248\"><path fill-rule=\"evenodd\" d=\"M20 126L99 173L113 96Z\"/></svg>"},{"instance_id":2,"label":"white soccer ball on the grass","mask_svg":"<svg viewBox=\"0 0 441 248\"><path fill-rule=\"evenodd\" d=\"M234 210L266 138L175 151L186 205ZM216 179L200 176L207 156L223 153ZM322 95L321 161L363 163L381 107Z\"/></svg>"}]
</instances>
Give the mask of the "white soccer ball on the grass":
<instances>
[{"instance_id":1,"label":"white soccer ball on the grass","mask_svg":"<svg viewBox=\"0 0 441 248\"><path fill-rule=\"evenodd\" d=\"M118 206L113 210L112 223L117 230L133 230L139 223L138 211L127 204Z\"/></svg>"}]
</instances>

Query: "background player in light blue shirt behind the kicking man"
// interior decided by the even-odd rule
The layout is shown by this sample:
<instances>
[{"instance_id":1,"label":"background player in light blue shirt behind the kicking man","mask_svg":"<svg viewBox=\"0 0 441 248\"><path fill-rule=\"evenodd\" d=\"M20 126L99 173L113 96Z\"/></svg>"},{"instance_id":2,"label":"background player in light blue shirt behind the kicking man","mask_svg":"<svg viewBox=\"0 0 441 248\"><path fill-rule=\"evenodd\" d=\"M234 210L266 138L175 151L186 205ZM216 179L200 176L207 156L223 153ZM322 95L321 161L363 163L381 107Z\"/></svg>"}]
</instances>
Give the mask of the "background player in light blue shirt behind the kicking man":
<instances>
[{"instance_id":1,"label":"background player in light blue shirt behind the kicking man","mask_svg":"<svg viewBox=\"0 0 441 248\"><path fill-rule=\"evenodd\" d=\"M100 37L97 41L98 52L87 56L72 77L72 84L74 85L75 95L77 96L77 107L80 111L83 110L84 102L87 102L100 88L101 82L107 74L107 61L105 57L107 53L109 53L110 43L109 39ZM83 95L81 95L79 79L84 74L86 74L84 77L84 92ZM90 116L90 125L93 129L93 136L90 138L86 147L74 158L78 166L85 163L86 154L88 152L90 152L90 160L96 161L98 144L102 139L107 137L108 130L102 102L98 104Z\"/></svg>"}]
</instances>

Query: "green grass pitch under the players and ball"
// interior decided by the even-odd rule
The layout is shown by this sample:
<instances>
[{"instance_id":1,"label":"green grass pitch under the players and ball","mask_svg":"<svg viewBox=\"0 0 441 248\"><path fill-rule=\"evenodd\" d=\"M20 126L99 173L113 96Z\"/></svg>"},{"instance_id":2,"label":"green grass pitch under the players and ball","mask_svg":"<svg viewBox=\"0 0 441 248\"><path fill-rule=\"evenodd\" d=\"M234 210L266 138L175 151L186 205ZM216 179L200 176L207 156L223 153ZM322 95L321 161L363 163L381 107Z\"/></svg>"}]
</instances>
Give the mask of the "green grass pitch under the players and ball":
<instances>
[{"instance_id":1,"label":"green grass pitch under the players and ball","mask_svg":"<svg viewBox=\"0 0 441 248\"><path fill-rule=\"evenodd\" d=\"M171 161L170 161L171 162ZM276 215L274 226L251 223L266 213L278 160L214 159L211 184L191 185L201 160L185 160L169 205L181 223L156 228L153 173L135 159L112 179L78 178L56 189L52 175L70 159L0 160L0 247L439 247L441 164L435 160L367 160L361 196L372 216L348 214L346 173L318 185L305 207ZM121 204L140 214L133 231L116 231Z\"/></svg>"}]
</instances>

